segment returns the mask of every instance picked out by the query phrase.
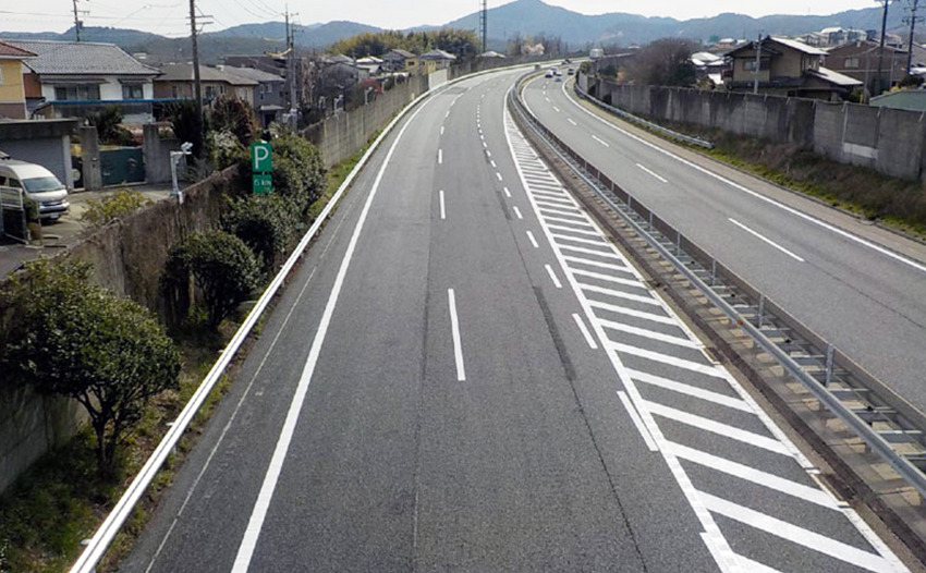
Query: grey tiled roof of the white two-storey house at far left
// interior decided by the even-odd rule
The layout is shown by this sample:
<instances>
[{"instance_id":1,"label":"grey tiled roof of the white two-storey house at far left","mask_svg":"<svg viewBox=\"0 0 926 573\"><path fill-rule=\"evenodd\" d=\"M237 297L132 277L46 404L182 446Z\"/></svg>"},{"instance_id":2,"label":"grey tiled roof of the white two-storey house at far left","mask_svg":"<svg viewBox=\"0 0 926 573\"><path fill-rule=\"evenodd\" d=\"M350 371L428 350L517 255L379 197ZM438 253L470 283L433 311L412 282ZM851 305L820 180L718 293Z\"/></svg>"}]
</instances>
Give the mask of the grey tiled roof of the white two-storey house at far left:
<instances>
[{"instance_id":1,"label":"grey tiled roof of the white two-storey house at far left","mask_svg":"<svg viewBox=\"0 0 926 573\"><path fill-rule=\"evenodd\" d=\"M3 40L37 58L26 65L39 75L157 75L158 71L138 62L114 44L90 41Z\"/></svg>"}]
</instances>

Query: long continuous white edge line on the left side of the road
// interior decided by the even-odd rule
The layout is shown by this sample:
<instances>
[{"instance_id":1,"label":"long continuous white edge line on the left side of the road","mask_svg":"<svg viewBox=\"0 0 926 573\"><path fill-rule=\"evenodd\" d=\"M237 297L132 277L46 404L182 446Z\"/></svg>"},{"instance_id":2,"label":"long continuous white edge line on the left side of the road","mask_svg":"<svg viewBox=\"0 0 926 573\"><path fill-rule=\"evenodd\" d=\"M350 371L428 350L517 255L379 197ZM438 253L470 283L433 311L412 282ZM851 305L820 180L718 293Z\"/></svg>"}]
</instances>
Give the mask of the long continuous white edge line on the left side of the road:
<instances>
[{"instance_id":1,"label":"long continuous white edge line on the left side of the road","mask_svg":"<svg viewBox=\"0 0 926 573\"><path fill-rule=\"evenodd\" d=\"M369 214L370 206L373 205L373 199L376 197L376 192L379 190L379 185L382 182L386 168L389 167L389 162L392 159L392 154L395 153L395 148L399 146L399 142L402 141L402 135L405 133L405 130L412 124L415 117L423 109L425 109L425 106L419 107L399 131L399 134L395 136L395 141L392 142L392 146L389 148L389 153L386 154L386 159L382 161L382 166L379 168L379 172L373 182L373 187L370 187L363 211L361 211L360 219L354 228L354 234L351 235L351 242L348 244L348 249L341 261L341 267L338 269L338 276L334 278L334 284L331 286L331 293L328 295L328 302L325 305L325 310L321 314L321 320L319 321L318 328L315 332L315 339L313 339L312 348L308 351L308 358L305 362L305 367L303 368L302 376L300 377L293 400L290 402L283 428L280 430L280 437L278 438L277 446L273 449L273 455L270 459L270 465L267 467L267 473L264 476L264 483L260 486L260 491L257 493L257 501L255 501L254 509L251 512L251 517L247 522L244 537L237 548L237 554L235 556L231 573L246 573L247 568L251 565L251 558L254 554L254 549L257 547L257 539L260 537L260 528L264 526L264 520L267 516L267 510L270 508L270 500L273 498L273 491L277 489L277 481L280 478L283 462L287 459L287 452L290 449L290 442L292 442L296 423L298 422L302 406L305 403L305 394L308 391L308 385L312 382L312 377L315 374L315 366L318 364L321 345L328 334L331 316L334 314L334 307L338 305L338 298L341 295L341 289L344 285L344 278L348 275L348 267L350 267L351 259L354 256L354 249L356 249L361 231L363 231L364 223L366 222L367 215Z\"/></svg>"}]
</instances>

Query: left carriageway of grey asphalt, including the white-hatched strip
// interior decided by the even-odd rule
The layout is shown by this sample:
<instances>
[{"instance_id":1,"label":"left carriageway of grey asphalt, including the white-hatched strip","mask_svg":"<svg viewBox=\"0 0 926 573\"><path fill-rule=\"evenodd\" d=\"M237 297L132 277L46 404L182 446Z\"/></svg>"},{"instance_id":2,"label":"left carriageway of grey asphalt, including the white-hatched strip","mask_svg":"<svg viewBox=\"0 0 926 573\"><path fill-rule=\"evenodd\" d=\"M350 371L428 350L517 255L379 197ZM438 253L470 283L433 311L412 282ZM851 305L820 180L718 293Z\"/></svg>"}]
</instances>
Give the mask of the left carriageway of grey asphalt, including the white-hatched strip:
<instances>
[{"instance_id":1,"label":"left carriageway of grey asphalt, including the white-hatched strip","mask_svg":"<svg viewBox=\"0 0 926 573\"><path fill-rule=\"evenodd\" d=\"M903 571L537 162L514 77L386 139L124 571Z\"/></svg>"}]
</instances>

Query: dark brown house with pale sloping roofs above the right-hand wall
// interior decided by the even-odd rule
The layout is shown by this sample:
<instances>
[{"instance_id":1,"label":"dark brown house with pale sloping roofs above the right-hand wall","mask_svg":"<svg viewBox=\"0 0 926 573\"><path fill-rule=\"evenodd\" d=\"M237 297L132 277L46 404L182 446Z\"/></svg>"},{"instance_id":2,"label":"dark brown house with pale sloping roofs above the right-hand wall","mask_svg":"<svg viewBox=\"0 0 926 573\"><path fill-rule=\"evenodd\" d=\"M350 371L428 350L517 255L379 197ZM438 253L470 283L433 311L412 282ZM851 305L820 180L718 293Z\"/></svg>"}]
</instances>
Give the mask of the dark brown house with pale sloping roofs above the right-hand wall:
<instances>
[{"instance_id":1,"label":"dark brown house with pale sloping roofs above the right-hand wall","mask_svg":"<svg viewBox=\"0 0 926 573\"><path fill-rule=\"evenodd\" d=\"M756 75L763 94L841 101L862 82L824 68L827 52L797 40L766 37L756 63L756 41L733 49L727 88L752 92Z\"/></svg>"}]
</instances>

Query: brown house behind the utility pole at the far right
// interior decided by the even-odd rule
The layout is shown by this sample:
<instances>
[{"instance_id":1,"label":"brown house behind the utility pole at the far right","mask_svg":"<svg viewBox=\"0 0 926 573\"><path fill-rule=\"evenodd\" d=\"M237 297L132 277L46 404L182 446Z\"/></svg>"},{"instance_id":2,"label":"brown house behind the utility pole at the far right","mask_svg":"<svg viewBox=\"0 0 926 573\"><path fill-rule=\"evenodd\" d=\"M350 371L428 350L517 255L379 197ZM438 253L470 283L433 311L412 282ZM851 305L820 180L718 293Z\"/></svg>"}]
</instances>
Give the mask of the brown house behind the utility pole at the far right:
<instances>
[{"instance_id":1,"label":"brown house behind the utility pole at the far right","mask_svg":"<svg viewBox=\"0 0 926 573\"><path fill-rule=\"evenodd\" d=\"M854 41L827 50L826 65L833 72L862 82L870 93L875 92L878 77L880 44L877 41ZM906 50L885 46L881 66L881 88L887 89L906 75Z\"/></svg>"}]
</instances>

